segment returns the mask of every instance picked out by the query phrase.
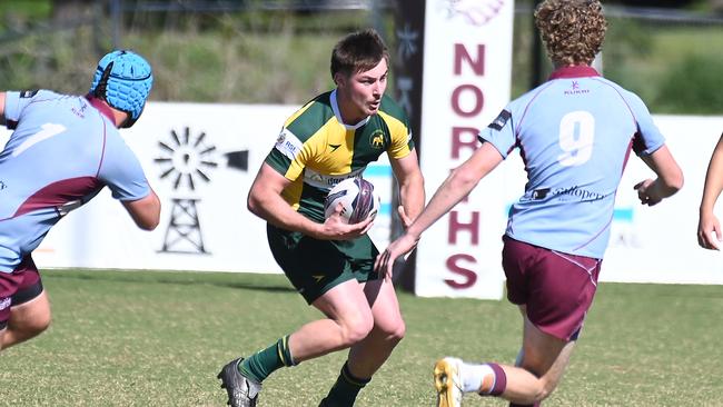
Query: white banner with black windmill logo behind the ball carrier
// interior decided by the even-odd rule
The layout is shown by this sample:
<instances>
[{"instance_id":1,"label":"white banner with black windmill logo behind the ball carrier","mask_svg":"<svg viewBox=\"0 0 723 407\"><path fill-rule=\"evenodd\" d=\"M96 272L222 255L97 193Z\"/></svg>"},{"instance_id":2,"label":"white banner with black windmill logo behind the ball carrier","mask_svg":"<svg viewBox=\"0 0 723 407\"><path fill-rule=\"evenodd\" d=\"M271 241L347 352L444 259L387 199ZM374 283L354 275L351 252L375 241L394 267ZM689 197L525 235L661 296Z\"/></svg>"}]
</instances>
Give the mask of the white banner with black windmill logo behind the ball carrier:
<instances>
[{"instance_id":1,"label":"white banner with black windmill logo behind the ball carrier","mask_svg":"<svg viewBox=\"0 0 723 407\"><path fill-rule=\"evenodd\" d=\"M280 272L266 222L246 197L297 106L149 102L121 130L161 199L161 222L139 230L108 189L61 219L33 252L39 267ZM4 128L3 128L4 129ZM9 137L1 135L0 146ZM382 198L372 238L388 244L392 169L386 155L365 178Z\"/></svg>"}]
</instances>

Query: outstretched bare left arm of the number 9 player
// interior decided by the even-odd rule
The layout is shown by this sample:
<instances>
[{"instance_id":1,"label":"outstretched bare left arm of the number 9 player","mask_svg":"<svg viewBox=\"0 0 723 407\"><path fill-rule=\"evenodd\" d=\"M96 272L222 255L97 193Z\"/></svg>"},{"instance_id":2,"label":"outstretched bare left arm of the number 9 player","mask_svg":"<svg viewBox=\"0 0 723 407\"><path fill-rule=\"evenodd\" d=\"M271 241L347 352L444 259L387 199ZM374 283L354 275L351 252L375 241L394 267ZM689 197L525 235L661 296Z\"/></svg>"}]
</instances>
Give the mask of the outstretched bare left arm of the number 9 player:
<instances>
[{"instance_id":1,"label":"outstretched bare left arm of the number 9 player","mask_svg":"<svg viewBox=\"0 0 723 407\"><path fill-rule=\"evenodd\" d=\"M502 155L492 143L483 143L472 157L449 173L429 200L429 205L407 228L406 232L377 256L375 269L384 272L386 278L390 278L394 261L414 249L422 232L469 195L477 182L495 169L502 160Z\"/></svg>"}]
</instances>

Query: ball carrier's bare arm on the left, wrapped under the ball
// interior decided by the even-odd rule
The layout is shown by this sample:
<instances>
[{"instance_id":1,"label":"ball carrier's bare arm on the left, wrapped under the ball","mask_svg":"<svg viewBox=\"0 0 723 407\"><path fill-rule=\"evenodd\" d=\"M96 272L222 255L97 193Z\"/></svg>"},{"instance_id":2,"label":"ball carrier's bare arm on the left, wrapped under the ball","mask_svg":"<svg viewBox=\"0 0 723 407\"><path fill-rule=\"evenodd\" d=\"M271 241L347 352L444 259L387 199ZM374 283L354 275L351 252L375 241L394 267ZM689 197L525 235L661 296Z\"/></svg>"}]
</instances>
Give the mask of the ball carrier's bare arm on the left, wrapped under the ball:
<instances>
[{"instance_id":1,"label":"ball carrier's bare arm on the left, wrapped under the ball","mask_svg":"<svg viewBox=\"0 0 723 407\"><path fill-rule=\"evenodd\" d=\"M274 226L324 240L347 240L366 234L373 219L348 225L340 215L330 216L324 224L317 224L294 210L281 197L290 181L271 166L264 163L251 185L247 206L254 215Z\"/></svg>"}]
</instances>

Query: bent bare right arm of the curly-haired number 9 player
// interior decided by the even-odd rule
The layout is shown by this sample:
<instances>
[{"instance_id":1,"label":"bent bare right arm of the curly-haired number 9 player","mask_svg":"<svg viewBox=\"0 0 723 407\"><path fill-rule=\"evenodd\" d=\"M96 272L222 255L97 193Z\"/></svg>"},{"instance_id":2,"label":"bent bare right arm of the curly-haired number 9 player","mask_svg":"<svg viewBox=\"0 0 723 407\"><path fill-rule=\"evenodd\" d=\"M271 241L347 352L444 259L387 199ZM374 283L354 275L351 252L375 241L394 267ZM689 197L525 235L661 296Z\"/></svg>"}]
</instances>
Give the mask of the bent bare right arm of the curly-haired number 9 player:
<instances>
[{"instance_id":1,"label":"bent bare right arm of the curly-haired number 9 player","mask_svg":"<svg viewBox=\"0 0 723 407\"><path fill-rule=\"evenodd\" d=\"M653 206L683 188L683 171L677 166L667 146L658 148L642 158L655 172L656 179L646 179L635 185L641 204Z\"/></svg>"}]
</instances>

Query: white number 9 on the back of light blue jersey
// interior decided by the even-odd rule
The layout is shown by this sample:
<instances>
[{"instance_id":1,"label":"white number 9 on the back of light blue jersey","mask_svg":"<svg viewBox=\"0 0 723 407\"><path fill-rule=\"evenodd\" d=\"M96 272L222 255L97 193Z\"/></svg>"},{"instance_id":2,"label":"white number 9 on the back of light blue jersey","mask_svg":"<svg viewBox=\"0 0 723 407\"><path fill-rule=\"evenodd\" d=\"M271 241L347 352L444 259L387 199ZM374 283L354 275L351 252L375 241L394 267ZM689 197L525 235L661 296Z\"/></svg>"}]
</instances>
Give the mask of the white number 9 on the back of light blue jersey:
<instances>
[{"instance_id":1,"label":"white number 9 on the back of light blue jersey","mask_svg":"<svg viewBox=\"0 0 723 407\"><path fill-rule=\"evenodd\" d=\"M557 161L565 167L581 166L593 155L595 118L588 111L578 110L563 116L559 121L559 148L564 151Z\"/></svg>"}]
</instances>

